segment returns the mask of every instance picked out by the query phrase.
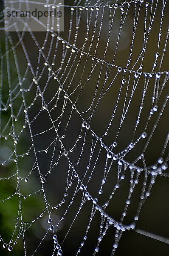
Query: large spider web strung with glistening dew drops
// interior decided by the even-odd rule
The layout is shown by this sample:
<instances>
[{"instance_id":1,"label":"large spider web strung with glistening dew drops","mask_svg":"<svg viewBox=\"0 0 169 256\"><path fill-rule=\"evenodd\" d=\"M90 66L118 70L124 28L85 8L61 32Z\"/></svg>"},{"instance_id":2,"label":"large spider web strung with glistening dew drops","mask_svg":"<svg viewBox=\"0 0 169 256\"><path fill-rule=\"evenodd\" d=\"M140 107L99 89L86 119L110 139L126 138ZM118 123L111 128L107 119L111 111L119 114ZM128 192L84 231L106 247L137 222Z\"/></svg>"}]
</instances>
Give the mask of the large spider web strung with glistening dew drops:
<instances>
[{"instance_id":1,"label":"large spider web strung with glistening dew drops","mask_svg":"<svg viewBox=\"0 0 169 256\"><path fill-rule=\"evenodd\" d=\"M158 230L137 228L152 187L169 177L169 2L64 7L65 31L57 33L47 26L34 33L28 24L4 32L1 12L0 183L13 191L1 193L1 205L17 205L2 246L15 253L22 240L24 255L36 255L48 238L50 255L66 255L73 228L72 255L105 255L109 230L112 256L127 231L169 244Z\"/></svg>"}]
</instances>

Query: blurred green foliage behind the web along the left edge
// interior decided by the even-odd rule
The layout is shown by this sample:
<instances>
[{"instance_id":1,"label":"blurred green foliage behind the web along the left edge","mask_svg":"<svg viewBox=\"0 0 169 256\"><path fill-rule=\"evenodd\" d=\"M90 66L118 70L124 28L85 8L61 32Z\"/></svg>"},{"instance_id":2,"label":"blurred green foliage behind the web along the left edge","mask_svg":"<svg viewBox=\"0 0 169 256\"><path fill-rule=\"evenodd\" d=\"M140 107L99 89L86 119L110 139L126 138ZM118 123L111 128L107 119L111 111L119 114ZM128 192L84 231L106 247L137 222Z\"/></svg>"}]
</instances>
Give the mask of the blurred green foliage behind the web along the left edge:
<instances>
[{"instance_id":1,"label":"blurred green foliage behind the web along the left edge","mask_svg":"<svg viewBox=\"0 0 169 256\"><path fill-rule=\"evenodd\" d=\"M5 42L5 34L3 31L0 31L0 53L1 56L6 53L6 42ZM18 53L19 57L22 58L23 52ZM11 52L9 55L9 64L10 64L10 74L11 74L11 89L13 90L18 83L18 75L17 70L15 66L14 56ZM7 65L6 65L6 58L0 59L0 61L3 61L3 72L1 74L2 78L2 87L0 90L1 99L6 104L10 103L8 100L9 97L9 87L8 87L8 76L7 76ZM0 63L2 64L2 63ZM22 72L22 67L21 67ZM2 76L3 75L3 76ZM24 73L21 73L21 77L24 76ZM27 81L28 83L28 81ZM18 113L20 106L22 104L22 95L21 93L17 96L17 100L14 101L13 104L13 110L14 113ZM0 108L3 108L2 102L0 102ZM0 163L3 163L5 160L7 160L10 155L12 154L14 150L14 141L11 137L10 133L11 130L11 121L9 122L7 128L6 124L11 116L11 108L8 108L7 111L0 111ZM17 119L16 122L14 122L14 129L16 131L16 134L20 133L21 128L23 127L25 121L24 113L20 113L19 119ZM28 139L27 139L27 131L25 131L22 134L22 137L20 139L20 145L19 145L19 151L22 151L22 153L26 152L28 150ZM5 137L7 139L5 139ZM5 163L3 166L0 165L0 177L10 177L11 175L14 175L17 171L16 163L13 160L14 157L11 157L7 163ZM22 158L21 158L22 159ZM25 161L25 159L22 159ZM22 177L26 177L28 175L28 171L30 171L30 166L32 164L32 161L34 159L31 159L30 157L27 157L26 164L23 165L22 161L18 161L18 164L22 164ZM36 177L31 177L31 183L35 184L36 187ZM30 191L32 191L34 186L30 186L28 184L21 181L21 193L22 195L28 195ZM23 184L24 183L24 184ZM12 237L13 234L13 242L17 239L17 235L20 229L20 223L18 226L15 227L16 221L17 221L17 215L18 215L18 209L19 209L19 195L14 195L17 188L17 175L14 177L11 177L10 179L4 179L0 180L0 236L2 237L3 241L7 244L7 247L3 248L3 241L0 243L0 255L8 256L11 255L11 253L8 251L8 243ZM18 189L17 189L18 192ZM11 195L13 195L11 197ZM26 212L26 216L29 217L30 220L35 218L35 209L36 212L39 212L39 214L44 209L44 204L42 203L42 198L36 194L36 196L30 196L26 199L23 199L21 195L21 206L23 204L23 201L25 207L22 209L22 212ZM6 198L11 197L6 200ZM2 201L3 200L3 201ZM19 214L20 218L20 214ZM23 219L23 221L26 221ZM14 232L15 229L15 232ZM28 229L26 232L28 239L29 236L31 236L32 226ZM13 246L13 253L15 256L22 256L23 255L23 236L20 236L20 239L17 239L17 244Z\"/></svg>"}]
</instances>

